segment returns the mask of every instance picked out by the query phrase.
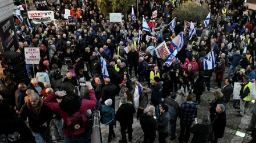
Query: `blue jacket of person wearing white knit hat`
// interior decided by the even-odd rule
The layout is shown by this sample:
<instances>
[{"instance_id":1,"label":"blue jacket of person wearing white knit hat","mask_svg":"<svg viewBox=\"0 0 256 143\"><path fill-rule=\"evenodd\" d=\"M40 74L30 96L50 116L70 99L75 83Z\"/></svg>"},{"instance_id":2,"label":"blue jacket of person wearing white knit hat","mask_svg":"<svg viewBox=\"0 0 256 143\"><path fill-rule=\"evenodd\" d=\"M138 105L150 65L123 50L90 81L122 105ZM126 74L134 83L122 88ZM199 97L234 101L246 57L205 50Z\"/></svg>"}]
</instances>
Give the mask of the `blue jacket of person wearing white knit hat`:
<instances>
[{"instance_id":1,"label":"blue jacket of person wearing white knit hat","mask_svg":"<svg viewBox=\"0 0 256 143\"><path fill-rule=\"evenodd\" d=\"M102 124L114 124L114 125L116 124L115 111L113 108L108 107L106 105L102 105L101 123Z\"/></svg>"}]
</instances>

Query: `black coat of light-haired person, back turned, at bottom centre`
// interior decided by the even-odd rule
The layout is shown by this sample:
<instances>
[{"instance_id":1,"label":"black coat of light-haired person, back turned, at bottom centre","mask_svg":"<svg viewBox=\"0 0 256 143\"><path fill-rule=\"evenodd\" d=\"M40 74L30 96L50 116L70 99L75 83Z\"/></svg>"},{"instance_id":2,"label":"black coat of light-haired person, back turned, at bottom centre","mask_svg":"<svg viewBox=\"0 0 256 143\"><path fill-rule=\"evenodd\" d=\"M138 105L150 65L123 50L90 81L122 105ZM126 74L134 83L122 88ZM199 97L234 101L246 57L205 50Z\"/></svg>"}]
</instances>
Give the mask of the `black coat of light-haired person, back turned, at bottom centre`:
<instances>
[{"instance_id":1,"label":"black coat of light-haired person, back turned, at bottom centre","mask_svg":"<svg viewBox=\"0 0 256 143\"><path fill-rule=\"evenodd\" d=\"M143 113L140 116L140 125L144 134L148 136L155 135L158 129L157 119L154 119L154 117L148 113Z\"/></svg>"}]
</instances>

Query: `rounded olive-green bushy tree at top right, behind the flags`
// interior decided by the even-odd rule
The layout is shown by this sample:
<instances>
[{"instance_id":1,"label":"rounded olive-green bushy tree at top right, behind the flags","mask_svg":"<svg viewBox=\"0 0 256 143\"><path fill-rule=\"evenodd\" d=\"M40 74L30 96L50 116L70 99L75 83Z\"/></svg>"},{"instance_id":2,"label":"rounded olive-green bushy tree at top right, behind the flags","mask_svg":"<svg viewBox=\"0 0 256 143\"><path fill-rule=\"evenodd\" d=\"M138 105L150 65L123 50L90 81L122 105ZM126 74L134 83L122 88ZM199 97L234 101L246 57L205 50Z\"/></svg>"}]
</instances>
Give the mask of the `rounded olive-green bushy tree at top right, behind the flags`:
<instances>
[{"instance_id":1,"label":"rounded olive-green bushy tree at top right, behind the flags","mask_svg":"<svg viewBox=\"0 0 256 143\"><path fill-rule=\"evenodd\" d=\"M179 21L198 21L202 22L207 17L208 6L207 3L203 3L201 6L194 1L186 1L179 6L179 8L175 9L172 13L173 17L177 17Z\"/></svg>"}]
</instances>

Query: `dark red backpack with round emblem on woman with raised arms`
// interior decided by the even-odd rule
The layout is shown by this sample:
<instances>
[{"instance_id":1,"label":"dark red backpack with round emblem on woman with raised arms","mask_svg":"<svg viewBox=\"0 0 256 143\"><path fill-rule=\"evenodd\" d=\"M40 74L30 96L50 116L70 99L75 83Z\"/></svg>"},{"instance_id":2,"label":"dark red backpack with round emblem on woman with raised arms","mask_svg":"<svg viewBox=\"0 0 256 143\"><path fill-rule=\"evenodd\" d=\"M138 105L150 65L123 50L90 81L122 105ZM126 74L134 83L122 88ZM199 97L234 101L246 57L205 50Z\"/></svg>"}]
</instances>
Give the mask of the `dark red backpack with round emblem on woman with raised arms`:
<instances>
[{"instance_id":1,"label":"dark red backpack with round emblem on woman with raised arms","mask_svg":"<svg viewBox=\"0 0 256 143\"><path fill-rule=\"evenodd\" d=\"M67 137L69 138L77 138L85 135L87 129L86 115L80 113L80 111L70 114L67 117L65 128Z\"/></svg>"}]
</instances>

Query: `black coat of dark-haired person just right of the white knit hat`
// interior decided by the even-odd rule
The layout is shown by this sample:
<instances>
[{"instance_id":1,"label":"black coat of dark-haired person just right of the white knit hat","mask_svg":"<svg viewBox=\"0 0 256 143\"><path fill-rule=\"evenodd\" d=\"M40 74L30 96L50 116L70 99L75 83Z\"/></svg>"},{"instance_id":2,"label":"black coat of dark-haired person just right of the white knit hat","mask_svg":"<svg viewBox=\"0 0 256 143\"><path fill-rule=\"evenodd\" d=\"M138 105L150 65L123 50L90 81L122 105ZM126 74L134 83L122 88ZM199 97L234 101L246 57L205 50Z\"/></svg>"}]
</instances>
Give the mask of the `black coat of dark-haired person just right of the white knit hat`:
<instances>
[{"instance_id":1,"label":"black coat of dark-haired person just right of the white knit hat","mask_svg":"<svg viewBox=\"0 0 256 143\"><path fill-rule=\"evenodd\" d=\"M116 120L120 122L121 126L123 124L133 124L133 113L135 112L136 110L133 104L122 104L118 108L118 111L116 111Z\"/></svg>"}]
</instances>

